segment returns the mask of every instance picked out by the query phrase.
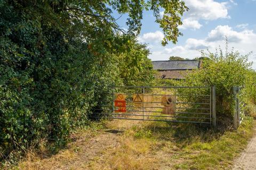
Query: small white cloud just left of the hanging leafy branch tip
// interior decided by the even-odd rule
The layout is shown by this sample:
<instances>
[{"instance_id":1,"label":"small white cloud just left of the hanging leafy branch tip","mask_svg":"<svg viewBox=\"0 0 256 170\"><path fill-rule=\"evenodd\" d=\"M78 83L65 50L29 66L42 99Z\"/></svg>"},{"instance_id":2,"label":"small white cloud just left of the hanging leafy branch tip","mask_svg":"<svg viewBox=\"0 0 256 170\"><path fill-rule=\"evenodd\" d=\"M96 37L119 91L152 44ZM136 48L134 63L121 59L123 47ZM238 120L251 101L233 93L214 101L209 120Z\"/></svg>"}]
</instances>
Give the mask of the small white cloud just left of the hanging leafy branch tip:
<instances>
[{"instance_id":1,"label":"small white cloud just left of the hanging leafy branch tip","mask_svg":"<svg viewBox=\"0 0 256 170\"><path fill-rule=\"evenodd\" d=\"M161 31L144 33L138 38L141 43L159 43L164 38L164 34Z\"/></svg>"}]
</instances>

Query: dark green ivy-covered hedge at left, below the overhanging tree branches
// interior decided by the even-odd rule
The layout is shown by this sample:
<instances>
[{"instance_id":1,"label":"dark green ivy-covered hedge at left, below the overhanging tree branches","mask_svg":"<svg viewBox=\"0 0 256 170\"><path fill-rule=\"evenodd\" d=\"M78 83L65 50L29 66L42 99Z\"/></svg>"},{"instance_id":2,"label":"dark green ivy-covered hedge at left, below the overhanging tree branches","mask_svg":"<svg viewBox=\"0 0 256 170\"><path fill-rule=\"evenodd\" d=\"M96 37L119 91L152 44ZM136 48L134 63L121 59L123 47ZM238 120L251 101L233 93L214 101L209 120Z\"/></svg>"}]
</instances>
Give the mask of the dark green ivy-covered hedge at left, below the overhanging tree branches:
<instances>
[{"instance_id":1,"label":"dark green ivy-covered hedge at left, below the overhanging tree branches","mask_svg":"<svg viewBox=\"0 0 256 170\"><path fill-rule=\"evenodd\" d=\"M70 129L83 125L97 99L105 97L115 66L100 62L85 43L66 39L39 16L13 6L0 11L1 152L43 138L65 142Z\"/></svg>"}]
</instances>

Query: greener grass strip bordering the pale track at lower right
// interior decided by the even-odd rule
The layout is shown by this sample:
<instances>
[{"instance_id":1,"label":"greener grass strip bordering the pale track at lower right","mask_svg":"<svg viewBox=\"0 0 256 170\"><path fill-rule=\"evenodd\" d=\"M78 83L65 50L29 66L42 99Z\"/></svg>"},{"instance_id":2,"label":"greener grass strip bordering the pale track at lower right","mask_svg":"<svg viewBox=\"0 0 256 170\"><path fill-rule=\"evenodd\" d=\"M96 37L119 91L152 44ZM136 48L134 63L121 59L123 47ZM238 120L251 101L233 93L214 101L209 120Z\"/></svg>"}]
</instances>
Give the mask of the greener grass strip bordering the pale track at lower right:
<instances>
[{"instance_id":1,"label":"greener grass strip bordering the pale track at lower right","mask_svg":"<svg viewBox=\"0 0 256 170\"><path fill-rule=\"evenodd\" d=\"M183 148L183 152L196 153L181 155L183 161L175 165L177 169L227 169L234 158L247 145L253 135L254 122L246 118L237 131L227 131L210 141L193 140ZM186 158L186 159L185 159Z\"/></svg>"}]
</instances>

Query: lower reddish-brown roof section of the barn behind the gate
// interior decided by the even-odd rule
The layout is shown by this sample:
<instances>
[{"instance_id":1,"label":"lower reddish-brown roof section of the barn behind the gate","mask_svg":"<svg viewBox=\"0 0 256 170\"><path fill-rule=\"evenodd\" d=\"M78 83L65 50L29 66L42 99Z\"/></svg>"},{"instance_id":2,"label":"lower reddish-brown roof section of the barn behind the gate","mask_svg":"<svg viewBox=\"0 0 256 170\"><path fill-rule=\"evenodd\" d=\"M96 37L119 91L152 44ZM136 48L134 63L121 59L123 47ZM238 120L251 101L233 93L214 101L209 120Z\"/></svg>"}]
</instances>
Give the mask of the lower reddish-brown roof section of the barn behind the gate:
<instances>
[{"instance_id":1,"label":"lower reddish-brown roof section of the barn behind the gate","mask_svg":"<svg viewBox=\"0 0 256 170\"><path fill-rule=\"evenodd\" d=\"M193 70L164 70L158 71L157 77L160 79L185 79L186 75Z\"/></svg>"}]
</instances>

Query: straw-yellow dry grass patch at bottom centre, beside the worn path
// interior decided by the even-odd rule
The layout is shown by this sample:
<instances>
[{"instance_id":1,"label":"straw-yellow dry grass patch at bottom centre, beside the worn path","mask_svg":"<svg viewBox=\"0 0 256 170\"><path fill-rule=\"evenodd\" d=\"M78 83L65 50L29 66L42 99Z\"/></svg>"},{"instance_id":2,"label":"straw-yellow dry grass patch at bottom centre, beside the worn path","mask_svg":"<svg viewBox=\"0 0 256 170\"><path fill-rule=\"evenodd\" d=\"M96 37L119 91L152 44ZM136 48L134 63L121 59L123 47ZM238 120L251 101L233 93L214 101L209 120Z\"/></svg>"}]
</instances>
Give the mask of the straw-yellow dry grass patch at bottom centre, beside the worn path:
<instances>
[{"instance_id":1,"label":"straw-yellow dry grass patch at bottom centre, beside the worn path","mask_svg":"<svg viewBox=\"0 0 256 170\"><path fill-rule=\"evenodd\" d=\"M118 148L109 149L100 159L90 163L91 169L150 169L154 158L148 157L151 142L145 139L137 141L124 139Z\"/></svg>"}]
</instances>

